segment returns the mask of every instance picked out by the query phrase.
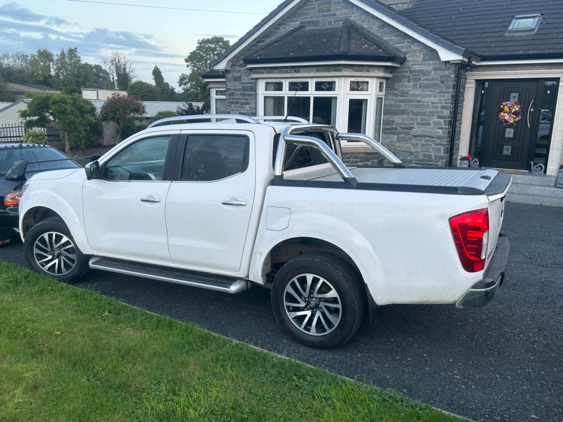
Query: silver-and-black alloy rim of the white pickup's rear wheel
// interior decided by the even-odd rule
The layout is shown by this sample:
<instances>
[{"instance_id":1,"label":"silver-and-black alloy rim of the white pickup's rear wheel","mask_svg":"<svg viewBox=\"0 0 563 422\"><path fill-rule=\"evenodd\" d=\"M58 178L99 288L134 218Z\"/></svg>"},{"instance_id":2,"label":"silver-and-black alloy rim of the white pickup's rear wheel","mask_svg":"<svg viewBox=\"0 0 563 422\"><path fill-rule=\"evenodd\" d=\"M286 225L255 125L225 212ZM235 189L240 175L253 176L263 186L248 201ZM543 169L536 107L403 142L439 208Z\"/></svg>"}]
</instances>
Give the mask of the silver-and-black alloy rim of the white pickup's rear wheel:
<instances>
[{"instance_id":1,"label":"silver-and-black alloy rim of the white pickup's rear wheel","mask_svg":"<svg viewBox=\"0 0 563 422\"><path fill-rule=\"evenodd\" d=\"M303 333L326 335L342 317L342 303L336 289L323 277L300 274L285 286L285 313Z\"/></svg>"}]
</instances>

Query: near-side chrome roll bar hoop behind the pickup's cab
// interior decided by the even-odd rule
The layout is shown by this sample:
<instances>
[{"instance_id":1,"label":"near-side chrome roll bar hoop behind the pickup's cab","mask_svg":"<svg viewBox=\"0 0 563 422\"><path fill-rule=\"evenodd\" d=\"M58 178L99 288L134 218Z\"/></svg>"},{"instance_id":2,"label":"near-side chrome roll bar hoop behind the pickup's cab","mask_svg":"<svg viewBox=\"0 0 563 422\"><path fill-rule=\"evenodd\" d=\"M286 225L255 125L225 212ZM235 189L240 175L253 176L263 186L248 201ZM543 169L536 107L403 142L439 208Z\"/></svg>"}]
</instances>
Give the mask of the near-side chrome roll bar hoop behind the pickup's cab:
<instances>
[{"instance_id":1,"label":"near-side chrome roll bar hoop behind the pickup's cab","mask_svg":"<svg viewBox=\"0 0 563 422\"><path fill-rule=\"evenodd\" d=\"M342 160L338 158L334 151L331 150L326 143L323 141L311 137L311 136L301 136L292 134L292 132L300 131L303 129L321 129L328 132L338 133L335 128L329 125L318 125L318 124L300 124L300 125L287 125L282 133L280 134L280 140L278 143L278 152L276 152L276 162L274 164L274 183L279 183L283 180L283 162L285 159L285 145L286 143L297 143L298 145L311 145L319 149L324 158L328 160L332 167L336 169L343 181L348 183L348 185L355 187L358 181L354 177L350 170L342 163Z\"/></svg>"}]
</instances>

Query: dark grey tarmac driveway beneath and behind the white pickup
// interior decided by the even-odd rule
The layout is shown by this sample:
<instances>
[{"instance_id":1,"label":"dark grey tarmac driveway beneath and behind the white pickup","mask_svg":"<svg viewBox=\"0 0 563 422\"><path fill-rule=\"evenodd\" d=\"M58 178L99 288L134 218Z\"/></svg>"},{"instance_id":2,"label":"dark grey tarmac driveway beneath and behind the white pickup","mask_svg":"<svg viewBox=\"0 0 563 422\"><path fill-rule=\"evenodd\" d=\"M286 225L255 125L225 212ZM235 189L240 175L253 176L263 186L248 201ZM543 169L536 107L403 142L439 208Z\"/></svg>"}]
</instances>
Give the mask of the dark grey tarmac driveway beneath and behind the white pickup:
<instances>
[{"instance_id":1,"label":"dark grey tarmac driveway beneath and behind the white pickup","mask_svg":"<svg viewBox=\"0 0 563 422\"><path fill-rule=\"evenodd\" d=\"M77 285L474 420L561 422L563 208L507 203L503 232L510 262L488 306L381 307L329 351L290 340L260 287L227 295L101 271ZM23 264L21 244L0 259Z\"/></svg>"}]
</instances>

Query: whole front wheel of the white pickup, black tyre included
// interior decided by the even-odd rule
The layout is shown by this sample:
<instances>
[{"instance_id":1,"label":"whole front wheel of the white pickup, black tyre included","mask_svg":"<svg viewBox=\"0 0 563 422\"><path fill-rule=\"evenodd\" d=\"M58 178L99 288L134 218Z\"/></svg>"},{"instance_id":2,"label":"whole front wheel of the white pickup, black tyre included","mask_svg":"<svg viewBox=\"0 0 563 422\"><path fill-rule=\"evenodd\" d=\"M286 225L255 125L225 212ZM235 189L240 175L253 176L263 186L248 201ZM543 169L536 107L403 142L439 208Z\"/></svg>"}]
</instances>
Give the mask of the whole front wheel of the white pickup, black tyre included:
<instances>
[{"instance_id":1,"label":"whole front wheel of the white pickup, black tyre included","mask_svg":"<svg viewBox=\"0 0 563 422\"><path fill-rule=\"evenodd\" d=\"M60 218L47 218L29 230L24 256L30 268L59 281L78 280L88 269L87 257Z\"/></svg>"}]
</instances>

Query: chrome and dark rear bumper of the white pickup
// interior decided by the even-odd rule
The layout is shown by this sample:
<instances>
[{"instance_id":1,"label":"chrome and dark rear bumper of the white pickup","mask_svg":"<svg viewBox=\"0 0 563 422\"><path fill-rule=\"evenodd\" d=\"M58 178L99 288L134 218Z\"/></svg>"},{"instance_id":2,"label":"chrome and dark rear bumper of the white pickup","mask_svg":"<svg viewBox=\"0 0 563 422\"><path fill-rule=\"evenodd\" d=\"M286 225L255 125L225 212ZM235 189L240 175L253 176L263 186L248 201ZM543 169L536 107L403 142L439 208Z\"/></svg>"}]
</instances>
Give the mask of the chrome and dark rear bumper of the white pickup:
<instances>
[{"instance_id":1,"label":"chrome and dark rear bumper of the white pickup","mask_svg":"<svg viewBox=\"0 0 563 422\"><path fill-rule=\"evenodd\" d=\"M477 308L493 300L498 287L504 281L504 272L510 254L508 237L499 234L495 252L489 266L483 273L483 279L477 281L461 299L455 303L458 308Z\"/></svg>"}]
</instances>

